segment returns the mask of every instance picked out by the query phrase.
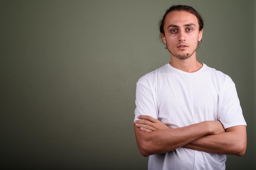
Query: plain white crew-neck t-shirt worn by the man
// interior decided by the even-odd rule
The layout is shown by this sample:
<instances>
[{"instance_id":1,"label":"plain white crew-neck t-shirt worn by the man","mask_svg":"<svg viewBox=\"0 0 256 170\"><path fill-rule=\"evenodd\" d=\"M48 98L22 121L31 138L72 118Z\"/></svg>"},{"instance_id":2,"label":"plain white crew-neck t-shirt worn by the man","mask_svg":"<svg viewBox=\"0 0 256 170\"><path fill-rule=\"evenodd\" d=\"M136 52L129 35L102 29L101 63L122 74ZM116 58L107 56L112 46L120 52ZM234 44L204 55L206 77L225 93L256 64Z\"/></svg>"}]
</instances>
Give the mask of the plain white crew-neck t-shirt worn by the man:
<instances>
[{"instance_id":1,"label":"plain white crew-neck t-shirt worn by the man","mask_svg":"<svg viewBox=\"0 0 256 170\"><path fill-rule=\"evenodd\" d=\"M203 67L188 73L169 63L142 76L136 88L135 119L149 115L171 128L219 120L225 129L246 125L234 82L229 76ZM177 148L150 155L149 170L225 170L226 155Z\"/></svg>"}]
</instances>

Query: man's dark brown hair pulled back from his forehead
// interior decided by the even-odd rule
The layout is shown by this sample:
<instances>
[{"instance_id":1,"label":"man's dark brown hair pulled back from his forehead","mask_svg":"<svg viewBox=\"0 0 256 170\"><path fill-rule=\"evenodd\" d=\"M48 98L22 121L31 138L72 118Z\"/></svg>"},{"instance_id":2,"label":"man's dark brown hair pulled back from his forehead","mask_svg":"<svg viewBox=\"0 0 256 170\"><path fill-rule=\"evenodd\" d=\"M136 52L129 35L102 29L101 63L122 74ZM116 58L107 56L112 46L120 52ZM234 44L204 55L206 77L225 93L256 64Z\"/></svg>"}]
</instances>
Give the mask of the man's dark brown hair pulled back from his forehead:
<instances>
[{"instance_id":1,"label":"man's dark brown hair pulled back from his forehead","mask_svg":"<svg viewBox=\"0 0 256 170\"><path fill-rule=\"evenodd\" d=\"M193 9L193 7L186 6L186 5L173 5L169 9L166 10L166 12L163 16L163 19L160 20L160 22L159 22L160 33L164 34L165 19L166 19L167 14L170 13L171 11L187 11L189 13L194 14L198 18L199 31L201 31L203 29L204 21L202 19L202 16L200 15L200 13L198 13L198 11Z\"/></svg>"}]
</instances>

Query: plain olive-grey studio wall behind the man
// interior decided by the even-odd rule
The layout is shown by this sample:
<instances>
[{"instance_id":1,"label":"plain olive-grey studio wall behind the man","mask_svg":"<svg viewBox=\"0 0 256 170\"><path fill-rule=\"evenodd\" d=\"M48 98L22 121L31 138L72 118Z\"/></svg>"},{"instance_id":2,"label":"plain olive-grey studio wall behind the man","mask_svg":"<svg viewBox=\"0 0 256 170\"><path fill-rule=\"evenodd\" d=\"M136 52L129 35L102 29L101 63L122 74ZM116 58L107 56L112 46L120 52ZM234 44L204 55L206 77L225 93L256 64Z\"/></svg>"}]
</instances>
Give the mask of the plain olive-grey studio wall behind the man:
<instances>
[{"instance_id":1,"label":"plain olive-grey studio wall behind the man","mask_svg":"<svg viewBox=\"0 0 256 170\"><path fill-rule=\"evenodd\" d=\"M256 168L254 0L1 0L1 167L146 170L135 88L170 61L157 23L173 4L202 13L198 60L236 83L248 145L227 170Z\"/></svg>"}]
</instances>

